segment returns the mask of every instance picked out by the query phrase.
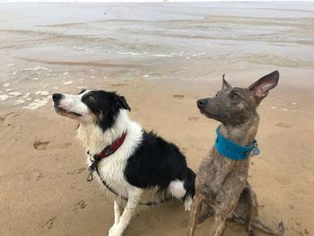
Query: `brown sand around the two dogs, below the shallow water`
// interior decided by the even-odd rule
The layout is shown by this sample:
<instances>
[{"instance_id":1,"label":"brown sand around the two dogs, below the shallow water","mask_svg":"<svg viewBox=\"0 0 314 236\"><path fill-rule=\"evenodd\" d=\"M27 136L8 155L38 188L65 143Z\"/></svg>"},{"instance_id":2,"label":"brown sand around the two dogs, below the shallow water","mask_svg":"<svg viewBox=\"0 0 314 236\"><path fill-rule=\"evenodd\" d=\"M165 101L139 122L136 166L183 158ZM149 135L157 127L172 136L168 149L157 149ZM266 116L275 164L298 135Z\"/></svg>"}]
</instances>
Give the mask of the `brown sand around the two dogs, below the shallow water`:
<instances>
[{"instance_id":1,"label":"brown sand around the two dogs, below the shallow water","mask_svg":"<svg viewBox=\"0 0 314 236\"><path fill-rule=\"evenodd\" d=\"M198 112L196 99L214 95L220 85L130 81L102 83L100 88L124 94L130 116L178 144L197 170L218 124ZM112 201L96 181L86 181L77 124L57 116L50 104L36 112L1 111L1 235L106 235L113 222ZM257 191L260 218L273 225L283 219L286 235L314 232L312 108L312 101L300 101L297 92L285 91L281 84L259 108L262 153L252 159L249 180ZM184 235L187 219L176 202L144 209L126 235ZM203 223L198 235L206 235L212 223ZM243 227L228 223L225 235L244 234Z\"/></svg>"}]
</instances>

